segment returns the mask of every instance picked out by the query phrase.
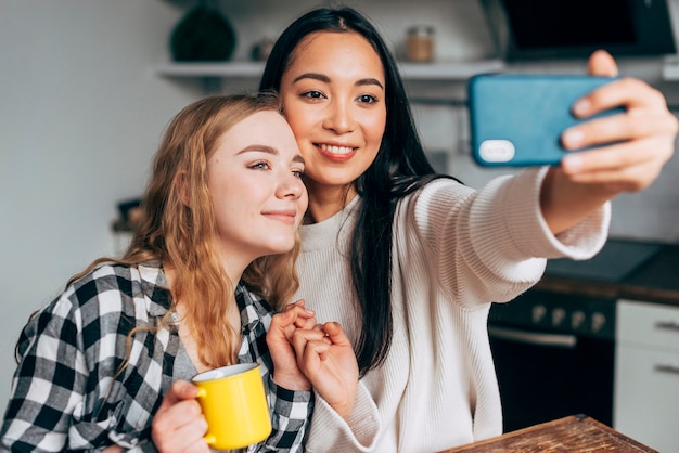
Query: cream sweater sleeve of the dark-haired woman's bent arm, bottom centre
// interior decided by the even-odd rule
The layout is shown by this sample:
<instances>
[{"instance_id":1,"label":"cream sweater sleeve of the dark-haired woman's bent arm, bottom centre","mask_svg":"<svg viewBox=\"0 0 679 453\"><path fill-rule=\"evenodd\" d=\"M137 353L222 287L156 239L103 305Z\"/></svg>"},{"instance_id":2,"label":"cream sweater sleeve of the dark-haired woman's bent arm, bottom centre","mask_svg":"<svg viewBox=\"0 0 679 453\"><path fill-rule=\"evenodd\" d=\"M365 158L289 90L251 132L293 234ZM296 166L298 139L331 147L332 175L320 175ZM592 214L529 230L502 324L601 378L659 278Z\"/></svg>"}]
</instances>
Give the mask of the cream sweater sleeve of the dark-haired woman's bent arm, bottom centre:
<instances>
[{"instance_id":1,"label":"cream sweater sleeve of the dark-haired woman's bent arm, bottom centre","mask_svg":"<svg viewBox=\"0 0 679 453\"><path fill-rule=\"evenodd\" d=\"M377 406L359 380L356 404L348 419L343 419L321 397L316 406L306 440L308 453L370 452L374 449L382 423Z\"/></svg>"}]
</instances>

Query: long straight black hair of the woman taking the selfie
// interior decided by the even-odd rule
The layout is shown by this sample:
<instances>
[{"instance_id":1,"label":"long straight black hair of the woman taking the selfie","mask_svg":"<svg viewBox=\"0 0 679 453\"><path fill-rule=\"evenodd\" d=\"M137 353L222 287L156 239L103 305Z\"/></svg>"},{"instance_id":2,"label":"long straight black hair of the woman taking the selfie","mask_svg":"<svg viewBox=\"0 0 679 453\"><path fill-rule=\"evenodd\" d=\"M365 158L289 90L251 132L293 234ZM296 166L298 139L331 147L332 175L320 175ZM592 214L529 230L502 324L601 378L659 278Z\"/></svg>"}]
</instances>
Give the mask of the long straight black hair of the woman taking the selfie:
<instances>
[{"instance_id":1,"label":"long straight black hair of the woman taking the selfie","mask_svg":"<svg viewBox=\"0 0 679 453\"><path fill-rule=\"evenodd\" d=\"M435 173L424 154L392 53L374 26L351 8L321 8L293 22L274 43L259 89L280 90L295 49L316 31L363 36L380 55L385 73L386 127L380 151L354 182L362 199L351 242L351 276L362 322L356 355L364 375L384 362L392 344L392 237L397 202L444 176Z\"/></svg>"}]
</instances>

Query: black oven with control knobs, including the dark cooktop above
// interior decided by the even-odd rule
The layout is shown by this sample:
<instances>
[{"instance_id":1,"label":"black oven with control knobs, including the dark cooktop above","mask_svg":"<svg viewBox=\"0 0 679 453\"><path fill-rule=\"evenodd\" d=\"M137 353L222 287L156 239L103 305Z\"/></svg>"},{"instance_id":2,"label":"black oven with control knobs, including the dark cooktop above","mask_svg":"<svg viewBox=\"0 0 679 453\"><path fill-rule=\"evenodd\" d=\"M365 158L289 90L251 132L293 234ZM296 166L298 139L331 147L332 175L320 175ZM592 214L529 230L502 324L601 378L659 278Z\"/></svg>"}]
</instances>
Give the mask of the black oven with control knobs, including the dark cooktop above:
<instances>
[{"instance_id":1,"label":"black oven with control knobs, including the dark cooktop above","mask_svg":"<svg viewBox=\"0 0 679 453\"><path fill-rule=\"evenodd\" d=\"M591 260L550 261L547 273L622 282L661 248L612 240ZM615 299L536 288L492 305L504 432L575 414L612 425L615 318Z\"/></svg>"}]
</instances>

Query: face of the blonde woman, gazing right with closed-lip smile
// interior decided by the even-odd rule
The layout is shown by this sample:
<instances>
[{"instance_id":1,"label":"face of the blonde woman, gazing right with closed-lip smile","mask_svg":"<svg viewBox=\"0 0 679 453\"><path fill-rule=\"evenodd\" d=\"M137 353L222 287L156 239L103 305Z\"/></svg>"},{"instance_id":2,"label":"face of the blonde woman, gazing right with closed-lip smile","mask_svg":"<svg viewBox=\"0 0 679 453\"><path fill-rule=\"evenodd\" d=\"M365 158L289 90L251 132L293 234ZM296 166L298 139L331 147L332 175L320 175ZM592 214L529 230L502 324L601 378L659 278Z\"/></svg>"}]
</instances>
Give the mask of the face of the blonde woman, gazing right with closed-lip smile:
<instances>
[{"instance_id":1,"label":"face of the blonde woman, gazing right with closed-lip smile","mask_svg":"<svg viewBox=\"0 0 679 453\"><path fill-rule=\"evenodd\" d=\"M285 119L255 113L225 132L207 161L217 247L229 273L290 251L307 208L304 159Z\"/></svg>"}]
</instances>

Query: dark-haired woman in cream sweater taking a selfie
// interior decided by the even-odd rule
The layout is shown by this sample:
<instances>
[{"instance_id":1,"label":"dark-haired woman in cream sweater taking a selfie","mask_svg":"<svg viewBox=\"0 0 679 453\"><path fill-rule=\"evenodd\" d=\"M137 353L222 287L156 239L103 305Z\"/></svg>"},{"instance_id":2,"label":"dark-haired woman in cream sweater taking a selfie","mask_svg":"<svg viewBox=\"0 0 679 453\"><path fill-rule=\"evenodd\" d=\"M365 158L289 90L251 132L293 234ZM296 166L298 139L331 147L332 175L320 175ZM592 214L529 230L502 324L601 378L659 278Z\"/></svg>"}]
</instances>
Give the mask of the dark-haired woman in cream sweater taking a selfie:
<instances>
[{"instance_id":1,"label":"dark-haired woman in cream sweater taking a selfie","mask_svg":"<svg viewBox=\"0 0 679 453\"><path fill-rule=\"evenodd\" d=\"M597 52L589 70L617 68ZM626 113L562 138L567 148L615 144L472 190L434 173L396 63L353 9L296 20L260 89L280 92L306 163L296 297L345 327L382 418L377 438L361 442L319 399L307 451L433 452L500 435L490 303L534 285L547 258L600 249L608 200L650 185L674 153L677 120L664 98L640 80L616 80L575 113Z\"/></svg>"}]
</instances>

